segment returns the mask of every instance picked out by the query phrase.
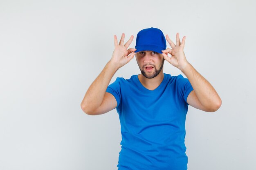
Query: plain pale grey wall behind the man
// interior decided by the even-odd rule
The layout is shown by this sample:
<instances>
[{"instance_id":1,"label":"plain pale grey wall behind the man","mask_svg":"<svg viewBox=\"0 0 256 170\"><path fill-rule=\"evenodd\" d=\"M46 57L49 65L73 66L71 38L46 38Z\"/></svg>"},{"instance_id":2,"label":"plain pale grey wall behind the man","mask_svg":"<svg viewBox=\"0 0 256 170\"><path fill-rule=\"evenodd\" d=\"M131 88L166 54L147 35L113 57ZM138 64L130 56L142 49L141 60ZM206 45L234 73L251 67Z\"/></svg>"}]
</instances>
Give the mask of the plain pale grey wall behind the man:
<instances>
[{"instance_id":1,"label":"plain pale grey wall behind the man","mask_svg":"<svg viewBox=\"0 0 256 170\"><path fill-rule=\"evenodd\" d=\"M216 89L214 113L189 106L189 170L256 167L256 2L0 0L0 169L117 170L118 113L80 108L110 60L114 34L125 42L156 27ZM167 43L167 48L171 48ZM135 57L116 77L139 74ZM164 73L184 75L164 63Z\"/></svg>"}]
</instances>

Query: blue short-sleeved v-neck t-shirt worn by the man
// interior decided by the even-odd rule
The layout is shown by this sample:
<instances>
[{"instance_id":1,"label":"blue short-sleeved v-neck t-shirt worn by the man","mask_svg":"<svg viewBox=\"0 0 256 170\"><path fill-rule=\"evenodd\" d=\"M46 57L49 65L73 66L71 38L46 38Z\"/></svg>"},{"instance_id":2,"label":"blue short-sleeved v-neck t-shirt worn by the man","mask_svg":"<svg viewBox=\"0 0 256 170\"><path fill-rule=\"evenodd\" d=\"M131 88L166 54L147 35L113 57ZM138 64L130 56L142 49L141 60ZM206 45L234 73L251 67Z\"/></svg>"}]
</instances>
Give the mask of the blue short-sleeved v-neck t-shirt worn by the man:
<instances>
[{"instance_id":1,"label":"blue short-sleeved v-neck t-shirt worn by the man","mask_svg":"<svg viewBox=\"0 0 256 170\"><path fill-rule=\"evenodd\" d=\"M187 170L186 99L191 91L189 79L166 73L154 90L145 88L138 75L117 77L108 86L121 124L118 170Z\"/></svg>"}]
</instances>

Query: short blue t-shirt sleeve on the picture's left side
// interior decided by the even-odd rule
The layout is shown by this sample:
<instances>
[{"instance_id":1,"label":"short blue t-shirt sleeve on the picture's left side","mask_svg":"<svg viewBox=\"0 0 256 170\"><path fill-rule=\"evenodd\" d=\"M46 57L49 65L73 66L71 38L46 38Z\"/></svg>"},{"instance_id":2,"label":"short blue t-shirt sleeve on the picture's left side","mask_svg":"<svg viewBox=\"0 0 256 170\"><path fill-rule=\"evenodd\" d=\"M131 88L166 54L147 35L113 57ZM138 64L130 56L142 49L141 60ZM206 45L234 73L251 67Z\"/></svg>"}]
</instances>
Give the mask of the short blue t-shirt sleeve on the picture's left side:
<instances>
[{"instance_id":1,"label":"short blue t-shirt sleeve on the picture's left side","mask_svg":"<svg viewBox=\"0 0 256 170\"><path fill-rule=\"evenodd\" d=\"M117 77L117 79L115 80L115 82L111 83L108 85L106 92L111 93L117 100L117 107L120 104L120 100L121 100L121 78ZM116 108L117 108L116 107Z\"/></svg>"}]
</instances>

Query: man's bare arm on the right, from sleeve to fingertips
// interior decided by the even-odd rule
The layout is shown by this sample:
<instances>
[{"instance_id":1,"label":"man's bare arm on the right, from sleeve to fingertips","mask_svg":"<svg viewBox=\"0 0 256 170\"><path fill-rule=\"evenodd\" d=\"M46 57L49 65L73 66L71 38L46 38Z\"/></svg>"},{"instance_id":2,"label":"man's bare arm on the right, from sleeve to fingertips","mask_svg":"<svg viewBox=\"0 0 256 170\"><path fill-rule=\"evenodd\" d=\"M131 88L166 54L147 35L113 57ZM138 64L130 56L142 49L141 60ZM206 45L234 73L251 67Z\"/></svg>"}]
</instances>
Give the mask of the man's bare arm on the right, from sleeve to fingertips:
<instances>
[{"instance_id":1,"label":"man's bare arm on the right, from sleeve to fingertips","mask_svg":"<svg viewBox=\"0 0 256 170\"><path fill-rule=\"evenodd\" d=\"M163 50L164 59L173 66L179 68L188 77L193 91L187 98L187 103L195 108L204 111L214 112L221 106L221 99L213 86L193 68L193 66L186 60L184 54L184 44L186 36L183 37L180 43L179 33L176 34L176 45L171 41L168 35L166 40L171 45L172 49ZM168 56L171 54L171 57Z\"/></svg>"}]
</instances>

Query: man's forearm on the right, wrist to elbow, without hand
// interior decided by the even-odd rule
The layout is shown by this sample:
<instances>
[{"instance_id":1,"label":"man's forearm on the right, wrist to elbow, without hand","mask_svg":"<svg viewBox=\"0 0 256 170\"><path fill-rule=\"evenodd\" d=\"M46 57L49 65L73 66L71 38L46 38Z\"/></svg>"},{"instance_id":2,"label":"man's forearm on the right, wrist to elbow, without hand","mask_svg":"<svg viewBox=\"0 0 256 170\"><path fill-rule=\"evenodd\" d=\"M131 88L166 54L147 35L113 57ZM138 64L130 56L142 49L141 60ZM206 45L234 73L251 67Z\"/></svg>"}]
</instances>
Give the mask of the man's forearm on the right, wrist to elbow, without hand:
<instances>
[{"instance_id":1,"label":"man's forearm on the right, wrist to elbow, without hand","mask_svg":"<svg viewBox=\"0 0 256 170\"><path fill-rule=\"evenodd\" d=\"M200 103L208 108L220 106L221 99L213 86L188 62L181 71L186 75Z\"/></svg>"}]
</instances>

